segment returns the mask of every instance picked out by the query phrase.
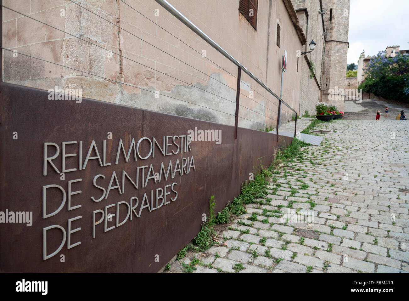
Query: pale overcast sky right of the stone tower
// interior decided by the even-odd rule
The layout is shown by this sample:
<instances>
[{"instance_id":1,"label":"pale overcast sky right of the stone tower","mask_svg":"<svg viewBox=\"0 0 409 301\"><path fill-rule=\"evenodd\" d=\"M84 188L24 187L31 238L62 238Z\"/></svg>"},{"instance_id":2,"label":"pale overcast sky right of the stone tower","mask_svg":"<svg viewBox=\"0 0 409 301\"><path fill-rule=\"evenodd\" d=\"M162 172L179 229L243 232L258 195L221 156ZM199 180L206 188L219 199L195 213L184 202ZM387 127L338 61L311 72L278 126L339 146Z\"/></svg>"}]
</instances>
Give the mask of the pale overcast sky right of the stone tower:
<instances>
[{"instance_id":1,"label":"pale overcast sky right of the stone tower","mask_svg":"<svg viewBox=\"0 0 409 301\"><path fill-rule=\"evenodd\" d=\"M351 0L348 64L387 46L409 49L409 0Z\"/></svg>"}]
</instances>

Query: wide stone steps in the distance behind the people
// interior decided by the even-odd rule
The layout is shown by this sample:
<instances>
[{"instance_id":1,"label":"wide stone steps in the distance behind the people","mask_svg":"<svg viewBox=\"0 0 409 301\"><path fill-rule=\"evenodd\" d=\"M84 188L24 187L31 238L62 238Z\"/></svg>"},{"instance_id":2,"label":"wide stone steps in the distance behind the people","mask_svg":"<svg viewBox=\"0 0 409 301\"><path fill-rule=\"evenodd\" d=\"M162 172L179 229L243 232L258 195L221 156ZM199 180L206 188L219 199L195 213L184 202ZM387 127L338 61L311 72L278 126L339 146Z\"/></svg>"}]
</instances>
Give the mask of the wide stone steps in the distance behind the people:
<instances>
[{"instance_id":1,"label":"wide stone steps in the distance behind the people","mask_svg":"<svg viewBox=\"0 0 409 301\"><path fill-rule=\"evenodd\" d=\"M348 101L345 101L347 103ZM355 104L355 107L358 106L355 101L353 101ZM363 100L359 106L362 106L360 108L360 111L355 111L355 112L344 112L344 119L349 119L349 120L375 120L376 117L376 111L381 112L380 120L395 120L396 115L400 113L400 111L404 110L405 114L407 115L409 113L409 109L404 108L404 107L398 107L397 105L392 105L392 104L385 104L385 103L380 103L376 102L375 100ZM388 117L384 117L385 114L385 106L389 106L389 113ZM347 107L347 105L346 105Z\"/></svg>"}]
</instances>

